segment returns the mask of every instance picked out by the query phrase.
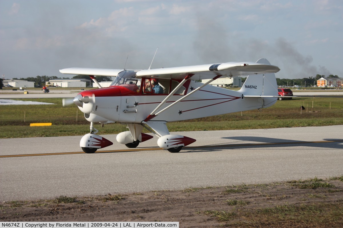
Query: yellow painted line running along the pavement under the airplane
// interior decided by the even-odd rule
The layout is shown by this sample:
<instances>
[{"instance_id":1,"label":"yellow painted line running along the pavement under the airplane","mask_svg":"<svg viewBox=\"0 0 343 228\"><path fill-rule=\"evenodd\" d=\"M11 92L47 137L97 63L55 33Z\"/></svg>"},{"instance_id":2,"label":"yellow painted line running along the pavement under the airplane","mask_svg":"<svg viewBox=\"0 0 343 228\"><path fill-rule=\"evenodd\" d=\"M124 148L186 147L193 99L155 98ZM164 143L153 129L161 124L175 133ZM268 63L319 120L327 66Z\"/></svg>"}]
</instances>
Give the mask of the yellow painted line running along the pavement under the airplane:
<instances>
[{"instance_id":1,"label":"yellow painted line running along the pavement under the airplane","mask_svg":"<svg viewBox=\"0 0 343 228\"><path fill-rule=\"evenodd\" d=\"M308 143L336 143L343 142L343 140L332 141L314 141L314 142L285 142L285 143L247 143L247 144L225 144L225 145L212 145L212 146L187 146L185 149L197 148L214 148L214 147L240 147L240 146L266 146L266 145L285 145L285 144L308 144ZM95 151L95 153L118 153L118 152L133 152L133 151L146 151L146 150L164 150L162 148L138 148L138 149L125 149L125 150L103 150ZM46 155L74 155L85 152L61 152L61 153L34 153L28 155L2 155L0 158L14 158L14 157L30 157L30 156L46 156Z\"/></svg>"}]
</instances>

